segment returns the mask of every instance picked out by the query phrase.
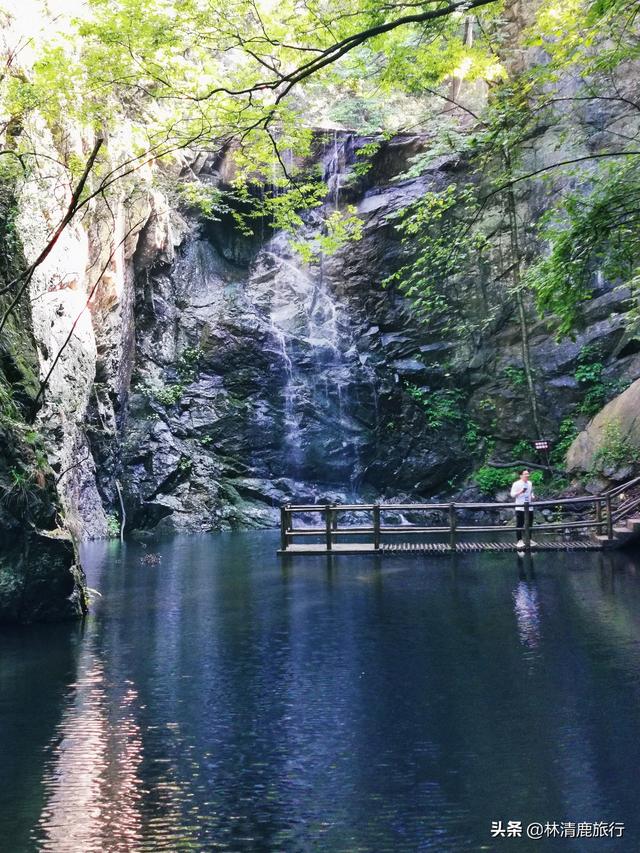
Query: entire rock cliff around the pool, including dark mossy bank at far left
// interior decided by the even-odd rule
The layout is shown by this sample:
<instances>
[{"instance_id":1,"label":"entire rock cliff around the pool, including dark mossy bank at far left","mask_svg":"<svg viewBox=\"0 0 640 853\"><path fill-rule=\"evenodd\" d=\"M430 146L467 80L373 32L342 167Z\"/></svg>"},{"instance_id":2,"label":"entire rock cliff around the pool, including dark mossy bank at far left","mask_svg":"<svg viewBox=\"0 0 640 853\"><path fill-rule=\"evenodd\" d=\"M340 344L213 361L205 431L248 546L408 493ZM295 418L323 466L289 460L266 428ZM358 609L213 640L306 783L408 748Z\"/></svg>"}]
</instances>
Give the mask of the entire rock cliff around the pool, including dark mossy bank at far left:
<instances>
[{"instance_id":1,"label":"entire rock cliff around the pool, including dark mossy bank at far left","mask_svg":"<svg viewBox=\"0 0 640 853\"><path fill-rule=\"evenodd\" d=\"M509 5L513 45L524 5ZM529 61L527 49L508 58L512 71ZM561 110L557 124L526 140L519 168L598 151L613 121L618 132L636 132L616 109ZM65 230L1 344L0 531L16 548L0 563L0 620L82 612L81 571L61 531L78 539L121 523L127 531L268 526L285 501L459 494L488 453L530 455L537 430L523 318L539 427L552 441L566 441L631 385L574 444L571 467L589 469L611 411L633 411L640 345L627 331L629 290L594 270L573 340L558 341L526 293L519 316L496 198L480 220L482 263L449 284L456 323L418 320L386 284L411 253L394 214L426 192L483 179L428 134L377 140L365 173L356 165L373 141L316 134L307 165L322 171L329 193L323 208L303 214L304 236L317 241L326 215L353 205L362 238L311 261L266 219L248 235L231 213L207 218L179 200L184 181L229 189L224 149L142 171ZM68 203L66 190L49 191L56 143L44 144L51 162L20 198L7 198L4 236L15 240L4 242L3 281L38 255ZM86 155L86 140L69 144ZM558 173L518 186L525 262L543 248L541 215L574 184Z\"/></svg>"}]
</instances>

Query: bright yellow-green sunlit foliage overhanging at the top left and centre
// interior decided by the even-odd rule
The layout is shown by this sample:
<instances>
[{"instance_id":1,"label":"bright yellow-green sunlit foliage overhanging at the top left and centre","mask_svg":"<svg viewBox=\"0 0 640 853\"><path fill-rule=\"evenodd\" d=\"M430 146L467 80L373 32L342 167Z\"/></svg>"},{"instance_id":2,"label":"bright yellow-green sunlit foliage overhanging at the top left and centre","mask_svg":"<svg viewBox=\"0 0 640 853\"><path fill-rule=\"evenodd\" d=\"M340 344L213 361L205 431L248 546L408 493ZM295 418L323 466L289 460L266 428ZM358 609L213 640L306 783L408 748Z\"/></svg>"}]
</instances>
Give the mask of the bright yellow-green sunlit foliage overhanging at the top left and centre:
<instances>
[{"instance_id":1,"label":"bright yellow-green sunlit foliage overhanging at the top left and centre","mask_svg":"<svg viewBox=\"0 0 640 853\"><path fill-rule=\"evenodd\" d=\"M402 113L392 115L397 104L412 98L414 106L425 82L442 83L461 67L468 79L478 79L496 66L489 39L479 37L472 47L461 42L455 7L433 22L405 20L403 12L402 4L380 7L372 0L236 0L222 6L88 0L77 18L63 9L45 17L29 38L34 61L26 73L8 54L0 106L19 141L21 166L39 168L37 134L23 139L21 133L31 118L44 120L59 144L56 168L66 172L55 176L58 183L73 184L86 164L69 144L70 128L87 140L104 138L85 199L96 181L104 180L106 189L149 163L177 160L177 150L224 148L233 161L233 198L189 181L178 188L181 201L206 219L228 213L247 232L251 219L267 217L275 228L296 233L299 212L326 196L323 182L305 175L301 165L311 153L313 127L333 117L361 133L388 131L405 120ZM489 21L493 8L479 15ZM403 25L394 27L400 20ZM360 37L371 28L381 31ZM336 42L354 49L339 63L320 61ZM307 73L316 62L314 73ZM295 88L287 74L296 78ZM43 139L46 145L46 134ZM362 171L366 166L359 164ZM180 158L181 174L184 167ZM256 189L270 183L274 191L256 200ZM236 203L249 200L254 212ZM330 221L321 250L357 239L357 229L353 219L348 225Z\"/></svg>"}]
</instances>

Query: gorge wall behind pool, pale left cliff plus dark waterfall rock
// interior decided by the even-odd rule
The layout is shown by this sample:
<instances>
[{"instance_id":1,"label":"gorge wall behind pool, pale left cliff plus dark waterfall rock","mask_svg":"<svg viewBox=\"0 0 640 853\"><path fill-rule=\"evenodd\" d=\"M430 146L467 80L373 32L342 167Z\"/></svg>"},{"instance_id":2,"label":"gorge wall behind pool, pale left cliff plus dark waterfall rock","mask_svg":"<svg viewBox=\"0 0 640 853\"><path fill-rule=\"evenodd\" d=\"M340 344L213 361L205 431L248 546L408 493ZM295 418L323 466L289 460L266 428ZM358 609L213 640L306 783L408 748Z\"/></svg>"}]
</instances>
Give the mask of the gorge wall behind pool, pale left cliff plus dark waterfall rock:
<instances>
[{"instance_id":1,"label":"gorge wall behind pool, pale left cliff plus dark waterfall rock","mask_svg":"<svg viewBox=\"0 0 640 853\"><path fill-rule=\"evenodd\" d=\"M115 229L95 211L88 231L70 230L38 272L31 312L42 372L73 329L37 423L77 535L105 535L108 517L119 524L118 490L128 530L273 525L288 500L451 494L486 441L499 456L535 437L516 308L490 267L461 283L468 322L484 324L471 338L417 321L383 287L404 257L390 216L465 179L465 161L434 155L419 177L403 177L431 142L399 137L358 176L357 152L370 141L319 136L327 207L355 205L363 221L362 238L331 256L305 264L268 223L247 237L231 217L206 220L143 187L121 199ZM538 139L532 156L556 155ZM224 187L228 169L223 155L200 157L172 179ZM540 186L518 203L535 221ZM305 214L309 239L326 213ZM499 252L508 237L498 229L492 239ZM576 340L557 342L529 306L549 435L584 396L575 373L585 347L597 348L612 387L640 375L628 308L628 293L600 280ZM424 405L430 398L448 407L443 420Z\"/></svg>"}]
</instances>

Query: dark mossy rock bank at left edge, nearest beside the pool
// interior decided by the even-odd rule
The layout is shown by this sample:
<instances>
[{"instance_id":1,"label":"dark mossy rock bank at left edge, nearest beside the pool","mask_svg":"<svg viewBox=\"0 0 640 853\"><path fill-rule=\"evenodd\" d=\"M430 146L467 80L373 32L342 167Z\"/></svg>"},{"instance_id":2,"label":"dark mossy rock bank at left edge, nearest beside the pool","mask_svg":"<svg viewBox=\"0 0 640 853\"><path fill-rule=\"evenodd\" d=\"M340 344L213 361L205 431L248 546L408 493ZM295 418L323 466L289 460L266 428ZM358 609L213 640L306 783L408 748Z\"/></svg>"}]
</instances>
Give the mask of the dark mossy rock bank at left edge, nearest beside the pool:
<instances>
[{"instance_id":1,"label":"dark mossy rock bank at left edge, nearest beside the pool","mask_svg":"<svg viewBox=\"0 0 640 853\"><path fill-rule=\"evenodd\" d=\"M0 316L3 286L19 274L14 248L15 199L0 194ZM17 247L16 247L17 248ZM74 618L86 612L84 575L62 521L54 471L33 425L39 364L26 304L0 339L0 624Z\"/></svg>"}]
</instances>

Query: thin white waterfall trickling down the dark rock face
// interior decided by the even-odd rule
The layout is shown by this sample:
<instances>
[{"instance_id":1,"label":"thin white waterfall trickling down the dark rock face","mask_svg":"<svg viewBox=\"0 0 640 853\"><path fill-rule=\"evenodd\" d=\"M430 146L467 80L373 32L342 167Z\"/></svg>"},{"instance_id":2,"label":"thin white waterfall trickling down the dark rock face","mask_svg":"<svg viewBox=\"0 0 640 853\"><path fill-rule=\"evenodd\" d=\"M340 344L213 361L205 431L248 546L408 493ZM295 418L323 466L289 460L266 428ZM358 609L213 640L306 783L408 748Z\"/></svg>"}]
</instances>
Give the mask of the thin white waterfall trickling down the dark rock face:
<instances>
[{"instance_id":1,"label":"thin white waterfall trickling down the dark rock face","mask_svg":"<svg viewBox=\"0 0 640 853\"><path fill-rule=\"evenodd\" d=\"M305 266L278 233L259 253L254 278L270 287L268 323L282 375L283 473L339 481L353 491L361 462L350 386L362 365L324 264Z\"/></svg>"}]
</instances>

